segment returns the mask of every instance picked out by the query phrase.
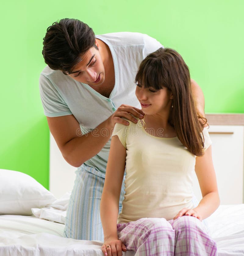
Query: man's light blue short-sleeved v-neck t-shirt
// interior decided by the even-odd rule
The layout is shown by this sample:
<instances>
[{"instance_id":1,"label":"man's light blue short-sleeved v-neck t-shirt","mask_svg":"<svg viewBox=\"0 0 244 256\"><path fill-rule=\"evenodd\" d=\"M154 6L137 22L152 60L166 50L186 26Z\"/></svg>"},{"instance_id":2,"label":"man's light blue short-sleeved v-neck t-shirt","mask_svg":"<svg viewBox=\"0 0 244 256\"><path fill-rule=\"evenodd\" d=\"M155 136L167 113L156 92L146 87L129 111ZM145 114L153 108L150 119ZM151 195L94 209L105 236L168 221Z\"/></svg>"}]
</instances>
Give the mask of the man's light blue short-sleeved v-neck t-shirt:
<instances>
[{"instance_id":1,"label":"man's light blue short-sleeved v-neck t-shirt","mask_svg":"<svg viewBox=\"0 0 244 256\"><path fill-rule=\"evenodd\" d=\"M141 61L162 45L146 34L119 32L97 35L112 53L115 85L109 98L102 96L89 85L64 75L60 70L45 67L40 75L40 95L47 117L73 114L82 134L95 128L111 116L121 104L140 108L135 96L135 75ZM106 132L106 131L104 131ZM110 141L85 164L105 173Z\"/></svg>"}]
</instances>

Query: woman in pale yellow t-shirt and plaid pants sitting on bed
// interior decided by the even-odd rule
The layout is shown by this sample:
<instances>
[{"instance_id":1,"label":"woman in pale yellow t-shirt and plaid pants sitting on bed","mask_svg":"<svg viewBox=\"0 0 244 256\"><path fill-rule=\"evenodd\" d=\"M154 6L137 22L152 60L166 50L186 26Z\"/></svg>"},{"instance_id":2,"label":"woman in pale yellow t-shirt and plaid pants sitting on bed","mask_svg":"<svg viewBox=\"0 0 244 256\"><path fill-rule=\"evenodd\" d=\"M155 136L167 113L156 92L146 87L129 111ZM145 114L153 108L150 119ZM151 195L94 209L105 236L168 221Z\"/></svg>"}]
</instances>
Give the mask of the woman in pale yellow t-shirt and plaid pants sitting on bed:
<instances>
[{"instance_id":1,"label":"woman in pale yellow t-shirt and plaid pants sitting on bed","mask_svg":"<svg viewBox=\"0 0 244 256\"><path fill-rule=\"evenodd\" d=\"M176 51L160 48L142 61L135 80L145 116L113 131L100 209L102 251L217 255L202 222L220 204L211 140L206 119L196 113L188 67ZM203 196L198 205L192 200L194 169Z\"/></svg>"}]
</instances>

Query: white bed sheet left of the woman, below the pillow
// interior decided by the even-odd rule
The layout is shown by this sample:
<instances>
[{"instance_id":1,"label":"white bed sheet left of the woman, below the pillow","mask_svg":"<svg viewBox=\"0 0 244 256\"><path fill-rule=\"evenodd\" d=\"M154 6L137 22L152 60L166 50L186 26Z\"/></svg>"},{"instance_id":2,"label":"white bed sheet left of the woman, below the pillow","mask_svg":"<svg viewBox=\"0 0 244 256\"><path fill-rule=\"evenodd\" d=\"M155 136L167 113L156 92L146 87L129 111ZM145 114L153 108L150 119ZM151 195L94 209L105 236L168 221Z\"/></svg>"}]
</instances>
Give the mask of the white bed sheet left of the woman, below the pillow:
<instances>
[{"instance_id":1,"label":"white bed sheet left of the woman, below the pillow","mask_svg":"<svg viewBox=\"0 0 244 256\"><path fill-rule=\"evenodd\" d=\"M0 215L1 256L102 256L100 241L64 238L64 224L22 215ZM128 251L125 256L134 255Z\"/></svg>"}]
</instances>

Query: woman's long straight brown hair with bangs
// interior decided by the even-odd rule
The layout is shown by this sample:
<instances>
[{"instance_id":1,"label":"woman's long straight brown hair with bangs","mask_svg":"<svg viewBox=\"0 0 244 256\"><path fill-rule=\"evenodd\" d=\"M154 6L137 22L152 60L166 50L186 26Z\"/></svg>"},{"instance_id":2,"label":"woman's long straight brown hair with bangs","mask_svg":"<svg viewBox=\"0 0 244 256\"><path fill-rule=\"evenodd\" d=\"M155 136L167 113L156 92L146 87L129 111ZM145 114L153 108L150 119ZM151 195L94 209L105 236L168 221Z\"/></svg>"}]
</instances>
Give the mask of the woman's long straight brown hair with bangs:
<instances>
[{"instance_id":1,"label":"woman's long straight brown hair with bangs","mask_svg":"<svg viewBox=\"0 0 244 256\"><path fill-rule=\"evenodd\" d=\"M170 48L152 52L140 64L135 81L146 88L159 90L166 87L171 91L173 107L170 109L169 123L175 128L181 143L192 154L202 156L202 131L207 120L197 113L189 69L181 55Z\"/></svg>"}]
</instances>

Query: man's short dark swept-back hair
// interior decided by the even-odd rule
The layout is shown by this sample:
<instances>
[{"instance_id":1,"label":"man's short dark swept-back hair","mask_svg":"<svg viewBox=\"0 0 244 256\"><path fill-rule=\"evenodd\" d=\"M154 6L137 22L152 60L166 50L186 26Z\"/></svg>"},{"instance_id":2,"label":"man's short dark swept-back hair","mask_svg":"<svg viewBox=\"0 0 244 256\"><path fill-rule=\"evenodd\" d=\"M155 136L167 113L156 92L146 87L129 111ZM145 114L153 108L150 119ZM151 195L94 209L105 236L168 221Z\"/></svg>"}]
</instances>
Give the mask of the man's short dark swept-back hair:
<instances>
[{"instance_id":1,"label":"man's short dark swept-back hair","mask_svg":"<svg viewBox=\"0 0 244 256\"><path fill-rule=\"evenodd\" d=\"M76 19L62 19L47 28L43 38L42 55L45 63L53 70L71 73L92 46L95 34L86 23Z\"/></svg>"}]
</instances>

